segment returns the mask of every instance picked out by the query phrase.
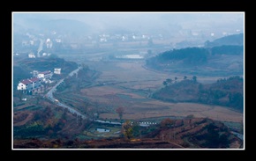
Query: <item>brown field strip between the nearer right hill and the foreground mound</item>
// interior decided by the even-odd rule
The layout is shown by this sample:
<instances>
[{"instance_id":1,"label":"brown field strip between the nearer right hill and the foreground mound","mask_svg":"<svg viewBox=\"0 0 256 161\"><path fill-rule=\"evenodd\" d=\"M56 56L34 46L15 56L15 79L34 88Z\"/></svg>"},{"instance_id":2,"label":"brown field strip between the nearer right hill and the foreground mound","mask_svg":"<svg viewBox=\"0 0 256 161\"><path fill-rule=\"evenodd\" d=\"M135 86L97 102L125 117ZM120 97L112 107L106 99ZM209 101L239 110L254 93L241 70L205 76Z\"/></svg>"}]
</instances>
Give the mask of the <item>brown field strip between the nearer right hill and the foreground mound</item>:
<instances>
[{"instance_id":1,"label":"brown field strip between the nearer right hill and the foreground mound","mask_svg":"<svg viewBox=\"0 0 256 161\"><path fill-rule=\"evenodd\" d=\"M244 119L243 113L238 113L222 106L208 106L195 103L162 103L161 106L161 104L158 105L155 102L153 105L150 103L151 102L147 102L147 105L139 104L132 107L126 107L123 118L127 120L137 120L139 118L154 118L163 116L185 117L192 114L195 117L207 117L215 121L240 122ZM100 116L101 118L118 118L117 113L102 113Z\"/></svg>"}]
</instances>

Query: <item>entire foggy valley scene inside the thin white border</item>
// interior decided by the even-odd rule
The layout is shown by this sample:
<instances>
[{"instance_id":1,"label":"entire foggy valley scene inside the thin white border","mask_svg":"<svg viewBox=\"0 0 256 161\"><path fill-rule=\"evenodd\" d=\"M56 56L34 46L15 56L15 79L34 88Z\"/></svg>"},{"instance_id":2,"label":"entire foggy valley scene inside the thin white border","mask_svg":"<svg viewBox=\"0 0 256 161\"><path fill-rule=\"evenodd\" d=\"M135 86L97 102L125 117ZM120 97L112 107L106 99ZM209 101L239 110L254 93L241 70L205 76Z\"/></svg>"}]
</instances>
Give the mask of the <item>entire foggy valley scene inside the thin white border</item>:
<instances>
[{"instance_id":1,"label":"entire foggy valley scene inside the thin white border","mask_svg":"<svg viewBox=\"0 0 256 161\"><path fill-rule=\"evenodd\" d=\"M13 149L245 149L244 12L12 12Z\"/></svg>"}]
</instances>

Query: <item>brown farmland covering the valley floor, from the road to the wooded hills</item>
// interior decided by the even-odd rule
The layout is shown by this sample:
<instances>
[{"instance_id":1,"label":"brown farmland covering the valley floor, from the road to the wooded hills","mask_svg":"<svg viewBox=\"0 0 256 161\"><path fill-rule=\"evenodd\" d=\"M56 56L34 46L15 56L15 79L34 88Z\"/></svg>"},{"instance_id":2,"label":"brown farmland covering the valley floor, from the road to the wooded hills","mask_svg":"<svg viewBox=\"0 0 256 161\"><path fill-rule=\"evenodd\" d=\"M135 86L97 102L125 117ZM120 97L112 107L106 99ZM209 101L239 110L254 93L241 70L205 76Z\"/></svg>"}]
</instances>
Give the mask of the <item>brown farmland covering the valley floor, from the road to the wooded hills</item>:
<instances>
[{"instance_id":1,"label":"brown farmland covering the valley floor, from the road to the wooded hills","mask_svg":"<svg viewBox=\"0 0 256 161\"><path fill-rule=\"evenodd\" d=\"M102 72L89 88L80 90L81 97L97 101L102 106L109 106L112 110L101 113L102 119L118 119L113 110L124 106L124 120L139 120L164 116L207 117L217 121L243 121L243 113L238 113L225 106L211 106L197 103L169 103L150 99L147 95L162 87L166 78L184 76L157 73L143 68L142 62L88 62L90 67ZM191 78L192 76L187 76ZM198 77L198 81L216 80L218 77Z\"/></svg>"}]
</instances>

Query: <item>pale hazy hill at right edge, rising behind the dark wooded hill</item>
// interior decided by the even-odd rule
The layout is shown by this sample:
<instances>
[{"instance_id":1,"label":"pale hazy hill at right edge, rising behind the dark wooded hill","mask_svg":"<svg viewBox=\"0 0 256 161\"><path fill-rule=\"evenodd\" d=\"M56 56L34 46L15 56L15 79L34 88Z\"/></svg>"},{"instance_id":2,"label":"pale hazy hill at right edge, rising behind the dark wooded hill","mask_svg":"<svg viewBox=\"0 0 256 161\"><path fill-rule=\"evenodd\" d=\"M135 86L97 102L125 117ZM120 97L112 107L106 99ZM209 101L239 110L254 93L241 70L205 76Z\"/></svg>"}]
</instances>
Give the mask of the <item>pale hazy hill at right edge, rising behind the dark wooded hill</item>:
<instances>
[{"instance_id":1,"label":"pale hazy hill at right edge, rising behind the dark wooded hill","mask_svg":"<svg viewBox=\"0 0 256 161\"><path fill-rule=\"evenodd\" d=\"M212 42L208 40L205 42L205 48L213 48L223 45L244 46L244 33L232 34L229 36L216 39Z\"/></svg>"}]
</instances>

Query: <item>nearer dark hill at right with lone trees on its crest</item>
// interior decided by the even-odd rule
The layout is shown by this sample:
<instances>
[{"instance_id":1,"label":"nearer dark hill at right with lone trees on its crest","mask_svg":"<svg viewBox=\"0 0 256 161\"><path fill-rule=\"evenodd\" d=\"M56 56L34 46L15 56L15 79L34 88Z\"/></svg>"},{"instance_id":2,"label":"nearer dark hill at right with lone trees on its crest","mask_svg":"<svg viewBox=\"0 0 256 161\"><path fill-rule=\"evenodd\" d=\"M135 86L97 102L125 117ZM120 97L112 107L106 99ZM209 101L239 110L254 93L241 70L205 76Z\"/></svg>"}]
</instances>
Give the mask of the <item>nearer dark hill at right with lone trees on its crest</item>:
<instances>
[{"instance_id":1,"label":"nearer dark hill at right with lone trees on its crest","mask_svg":"<svg viewBox=\"0 0 256 161\"><path fill-rule=\"evenodd\" d=\"M170 102L196 102L218 106L230 106L244 110L244 80L242 77L219 79L214 84L200 84L185 79L169 84L152 94L152 98Z\"/></svg>"}]
</instances>

